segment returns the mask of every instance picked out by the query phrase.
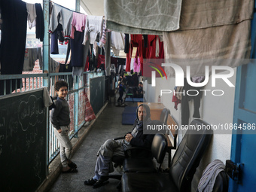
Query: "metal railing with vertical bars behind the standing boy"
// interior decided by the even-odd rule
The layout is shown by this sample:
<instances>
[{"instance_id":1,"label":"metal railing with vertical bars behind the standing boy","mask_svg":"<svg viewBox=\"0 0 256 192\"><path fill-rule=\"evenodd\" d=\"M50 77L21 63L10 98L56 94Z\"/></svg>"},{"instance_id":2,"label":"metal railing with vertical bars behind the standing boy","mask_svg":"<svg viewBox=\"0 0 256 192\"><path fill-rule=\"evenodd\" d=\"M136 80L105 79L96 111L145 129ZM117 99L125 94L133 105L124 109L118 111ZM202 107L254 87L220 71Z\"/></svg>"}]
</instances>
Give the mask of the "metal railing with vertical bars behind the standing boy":
<instances>
[{"instance_id":1,"label":"metal railing with vertical bars behind the standing boy","mask_svg":"<svg viewBox=\"0 0 256 192\"><path fill-rule=\"evenodd\" d=\"M70 110L70 132L69 138L77 136L78 130L85 122L85 97L90 94L90 78L104 75L104 72L84 72L82 76L72 76L70 73L50 73L50 74L26 74L26 75L0 75L0 81L4 86L3 94L24 92L43 87L43 81L48 81L50 96L56 96L54 84L56 81L64 80L69 84L67 101ZM87 95L90 98L90 95ZM47 165L59 153L59 142L54 135L53 126L50 123L50 112L47 116L48 144L47 144Z\"/></svg>"}]
</instances>

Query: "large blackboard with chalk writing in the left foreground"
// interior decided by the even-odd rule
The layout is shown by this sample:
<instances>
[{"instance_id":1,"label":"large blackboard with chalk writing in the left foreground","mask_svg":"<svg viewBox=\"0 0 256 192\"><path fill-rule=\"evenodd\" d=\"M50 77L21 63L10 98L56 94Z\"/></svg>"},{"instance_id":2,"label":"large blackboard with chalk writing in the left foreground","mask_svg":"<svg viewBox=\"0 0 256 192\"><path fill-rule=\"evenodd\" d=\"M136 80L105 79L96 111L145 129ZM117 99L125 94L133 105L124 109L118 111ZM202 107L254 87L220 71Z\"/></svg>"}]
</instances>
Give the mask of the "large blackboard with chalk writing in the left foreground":
<instances>
[{"instance_id":1,"label":"large blackboard with chalk writing in the left foreground","mask_svg":"<svg viewBox=\"0 0 256 192\"><path fill-rule=\"evenodd\" d=\"M43 89L0 96L0 190L35 191L47 174Z\"/></svg>"}]
</instances>

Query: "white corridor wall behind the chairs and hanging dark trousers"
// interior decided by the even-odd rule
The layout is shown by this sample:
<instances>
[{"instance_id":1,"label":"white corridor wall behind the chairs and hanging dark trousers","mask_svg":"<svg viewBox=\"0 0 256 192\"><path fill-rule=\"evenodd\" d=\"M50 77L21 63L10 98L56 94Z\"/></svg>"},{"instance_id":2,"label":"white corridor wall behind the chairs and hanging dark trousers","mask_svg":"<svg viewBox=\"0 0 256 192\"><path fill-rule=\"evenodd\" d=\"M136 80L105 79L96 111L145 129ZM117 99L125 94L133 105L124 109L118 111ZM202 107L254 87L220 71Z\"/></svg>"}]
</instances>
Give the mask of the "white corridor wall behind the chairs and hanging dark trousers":
<instances>
[{"instance_id":1,"label":"white corridor wall behind the chairs and hanging dark trousers","mask_svg":"<svg viewBox=\"0 0 256 192\"><path fill-rule=\"evenodd\" d=\"M229 78L233 85L236 84L236 71L232 78ZM160 94L160 90L172 90L172 93L163 94L162 102L166 108L169 108L172 116L178 121L179 126L181 125L181 104L178 104L178 110L174 108L174 102L172 102L173 88L175 87L175 78L161 79L157 78L156 87L151 87L148 84L147 92L150 99L154 96L154 101L157 102L157 97ZM209 124L218 125L225 123L233 123L233 105L234 105L234 93L235 87L229 87L223 80L216 81L216 87L212 87L211 76L209 77L209 83L206 84L204 90L223 90L223 96L212 96L212 93L207 92L206 96L201 99L200 114L201 118ZM154 93L154 94L153 94ZM217 93L217 92L215 92ZM219 92L218 92L219 93ZM193 102L190 102L190 121L193 120ZM184 132L184 131L183 131ZM179 132L178 143L181 141L184 133ZM197 184L202 175L203 169L206 168L207 164L212 160L219 159L225 164L226 160L230 159L230 148L231 148L231 134L220 134L218 130L214 131L212 142L209 145L208 151L201 160L200 166L197 168L197 172L194 175L192 182L192 190L197 190Z\"/></svg>"}]
</instances>

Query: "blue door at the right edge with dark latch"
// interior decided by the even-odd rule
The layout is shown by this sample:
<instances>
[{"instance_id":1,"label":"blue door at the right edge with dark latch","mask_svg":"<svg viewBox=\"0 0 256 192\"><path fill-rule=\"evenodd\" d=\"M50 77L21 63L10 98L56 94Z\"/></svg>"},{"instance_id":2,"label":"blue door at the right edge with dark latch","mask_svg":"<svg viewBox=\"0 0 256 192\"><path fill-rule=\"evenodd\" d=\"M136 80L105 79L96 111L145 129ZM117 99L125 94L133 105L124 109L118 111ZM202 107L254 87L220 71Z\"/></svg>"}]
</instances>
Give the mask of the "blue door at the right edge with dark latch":
<instances>
[{"instance_id":1,"label":"blue door at the right edge with dark latch","mask_svg":"<svg viewBox=\"0 0 256 192\"><path fill-rule=\"evenodd\" d=\"M255 6L254 6L255 10ZM242 163L239 182L230 179L229 191L256 191L256 14L251 26L251 63L236 72L236 94L233 123L245 125L247 130L233 130L231 160ZM240 133L240 134L236 134ZM253 133L253 134L252 134Z\"/></svg>"}]
</instances>

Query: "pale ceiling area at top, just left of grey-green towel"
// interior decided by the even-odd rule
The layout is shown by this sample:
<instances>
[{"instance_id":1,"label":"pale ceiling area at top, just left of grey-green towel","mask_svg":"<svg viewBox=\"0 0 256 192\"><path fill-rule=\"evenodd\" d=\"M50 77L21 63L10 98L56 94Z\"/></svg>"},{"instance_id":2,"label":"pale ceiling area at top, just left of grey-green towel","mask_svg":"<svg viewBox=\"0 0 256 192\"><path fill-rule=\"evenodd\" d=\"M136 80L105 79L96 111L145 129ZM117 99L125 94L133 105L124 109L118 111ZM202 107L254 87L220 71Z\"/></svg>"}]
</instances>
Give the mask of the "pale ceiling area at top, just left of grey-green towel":
<instances>
[{"instance_id":1,"label":"pale ceiling area at top, just left of grey-green towel","mask_svg":"<svg viewBox=\"0 0 256 192\"><path fill-rule=\"evenodd\" d=\"M81 0L80 5L88 15L104 15L104 0Z\"/></svg>"}]
</instances>

